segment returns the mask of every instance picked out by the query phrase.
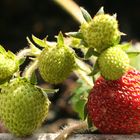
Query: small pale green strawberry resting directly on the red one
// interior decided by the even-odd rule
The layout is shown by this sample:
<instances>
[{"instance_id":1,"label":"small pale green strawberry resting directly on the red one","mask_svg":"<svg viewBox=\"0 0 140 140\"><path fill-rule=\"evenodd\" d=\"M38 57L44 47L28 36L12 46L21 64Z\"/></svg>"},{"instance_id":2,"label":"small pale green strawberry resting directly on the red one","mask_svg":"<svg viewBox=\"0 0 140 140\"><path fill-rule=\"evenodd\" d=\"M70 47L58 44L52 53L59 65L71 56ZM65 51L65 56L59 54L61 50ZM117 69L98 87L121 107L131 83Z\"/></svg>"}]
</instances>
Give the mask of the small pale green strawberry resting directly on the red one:
<instances>
[{"instance_id":1,"label":"small pale green strawberry resting directly on the red one","mask_svg":"<svg viewBox=\"0 0 140 140\"><path fill-rule=\"evenodd\" d=\"M119 79L130 68L128 55L118 46L103 51L98 64L102 76L107 80Z\"/></svg>"}]
</instances>

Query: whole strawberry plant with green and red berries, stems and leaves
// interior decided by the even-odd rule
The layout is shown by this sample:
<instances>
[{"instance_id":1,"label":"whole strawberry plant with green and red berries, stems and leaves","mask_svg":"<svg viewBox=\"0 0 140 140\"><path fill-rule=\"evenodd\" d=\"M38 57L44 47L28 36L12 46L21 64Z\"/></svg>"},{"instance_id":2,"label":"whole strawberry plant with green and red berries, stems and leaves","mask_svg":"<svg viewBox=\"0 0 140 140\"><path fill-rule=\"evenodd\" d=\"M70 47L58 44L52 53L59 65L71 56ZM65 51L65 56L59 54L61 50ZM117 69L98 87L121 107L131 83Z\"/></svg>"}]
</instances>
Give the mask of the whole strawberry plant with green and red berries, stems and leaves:
<instances>
[{"instance_id":1,"label":"whole strawberry plant with green and red berries, stems and leaves","mask_svg":"<svg viewBox=\"0 0 140 140\"><path fill-rule=\"evenodd\" d=\"M77 32L47 37L27 37L28 48L13 54L0 47L0 120L16 136L31 135L49 113L49 93L57 89L39 86L36 70L49 85L63 83L74 73L77 87L70 99L83 124L67 129L98 129L101 133L132 134L140 131L139 49L121 43L116 15L101 8L91 18L81 8L83 20ZM76 53L79 49L83 57ZM20 66L30 58L30 64ZM62 139L65 130L58 136Z\"/></svg>"}]
</instances>

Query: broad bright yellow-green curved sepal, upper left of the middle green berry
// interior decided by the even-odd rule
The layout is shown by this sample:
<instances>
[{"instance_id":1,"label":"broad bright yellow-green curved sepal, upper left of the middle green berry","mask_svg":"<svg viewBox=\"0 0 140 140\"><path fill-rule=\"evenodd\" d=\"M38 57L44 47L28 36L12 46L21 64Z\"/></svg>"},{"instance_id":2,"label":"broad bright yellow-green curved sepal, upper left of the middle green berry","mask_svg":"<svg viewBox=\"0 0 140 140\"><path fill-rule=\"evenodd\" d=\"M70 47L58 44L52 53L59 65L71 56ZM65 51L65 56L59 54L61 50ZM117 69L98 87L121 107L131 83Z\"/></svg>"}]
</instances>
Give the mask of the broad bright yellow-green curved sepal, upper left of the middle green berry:
<instances>
[{"instance_id":1,"label":"broad bright yellow-green curved sepal, upper left of the middle green berry","mask_svg":"<svg viewBox=\"0 0 140 140\"><path fill-rule=\"evenodd\" d=\"M46 42L47 37L45 39L41 40L41 39L35 37L34 35L32 35L32 39L40 47L47 47L48 46L47 42Z\"/></svg>"}]
</instances>

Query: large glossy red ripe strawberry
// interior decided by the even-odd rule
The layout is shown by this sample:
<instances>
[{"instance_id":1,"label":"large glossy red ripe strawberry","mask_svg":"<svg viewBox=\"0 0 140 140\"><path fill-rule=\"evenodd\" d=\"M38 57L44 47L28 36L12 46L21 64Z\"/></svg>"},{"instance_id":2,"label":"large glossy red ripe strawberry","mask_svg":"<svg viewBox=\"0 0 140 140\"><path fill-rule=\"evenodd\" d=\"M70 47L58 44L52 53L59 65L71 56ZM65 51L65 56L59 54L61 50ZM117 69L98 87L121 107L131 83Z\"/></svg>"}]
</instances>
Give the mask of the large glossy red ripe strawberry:
<instances>
[{"instance_id":1,"label":"large glossy red ripe strawberry","mask_svg":"<svg viewBox=\"0 0 140 140\"><path fill-rule=\"evenodd\" d=\"M140 72L129 70L118 80L100 77L88 97L89 118L102 133L140 132Z\"/></svg>"}]
</instances>

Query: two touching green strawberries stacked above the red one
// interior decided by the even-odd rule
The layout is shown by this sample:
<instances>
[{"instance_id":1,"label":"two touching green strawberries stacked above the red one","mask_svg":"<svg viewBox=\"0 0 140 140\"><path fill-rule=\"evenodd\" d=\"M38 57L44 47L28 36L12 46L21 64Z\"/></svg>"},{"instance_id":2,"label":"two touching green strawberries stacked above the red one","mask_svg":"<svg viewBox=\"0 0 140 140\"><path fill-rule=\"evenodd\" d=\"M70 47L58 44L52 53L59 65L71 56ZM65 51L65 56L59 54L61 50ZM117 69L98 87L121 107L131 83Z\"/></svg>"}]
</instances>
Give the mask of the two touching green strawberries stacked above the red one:
<instances>
[{"instance_id":1,"label":"two touching green strawberries stacked above the red one","mask_svg":"<svg viewBox=\"0 0 140 140\"><path fill-rule=\"evenodd\" d=\"M122 33L116 15L99 11L93 19L81 25L80 32L87 47L99 53L97 64L105 79L119 79L129 69L128 55L118 45Z\"/></svg>"}]
</instances>

